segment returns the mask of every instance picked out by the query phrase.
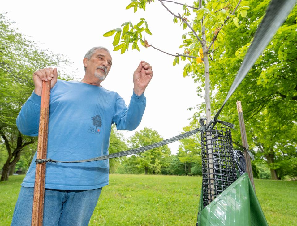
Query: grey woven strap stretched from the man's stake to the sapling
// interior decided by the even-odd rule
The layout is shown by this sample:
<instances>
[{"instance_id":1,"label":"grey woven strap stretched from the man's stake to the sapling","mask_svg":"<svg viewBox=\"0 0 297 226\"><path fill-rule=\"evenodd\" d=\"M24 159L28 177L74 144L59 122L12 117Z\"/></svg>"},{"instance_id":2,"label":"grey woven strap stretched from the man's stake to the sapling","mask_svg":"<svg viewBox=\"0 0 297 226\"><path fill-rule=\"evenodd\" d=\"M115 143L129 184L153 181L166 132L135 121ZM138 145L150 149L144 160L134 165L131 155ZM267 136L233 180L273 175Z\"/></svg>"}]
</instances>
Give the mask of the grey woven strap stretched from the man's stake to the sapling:
<instances>
[{"instance_id":1,"label":"grey woven strap stretched from the man's stake to the sapling","mask_svg":"<svg viewBox=\"0 0 297 226\"><path fill-rule=\"evenodd\" d=\"M118 158L118 157L123 157L123 156L128 156L128 155L133 155L136 153L140 153L143 151L148 151L150 149L154 149L157 147L161 147L163 145L172 143L174 141L178 141L184 138L187 138L189 136L192 136L194 134L196 134L197 132L199 132L199 129L195 129L183 134L179 134L175 137L166 139L166 140L162 140L158 143L153 143L147 146L143 146L143 147L139 147L139 148L135 148L135 149L131 149L131 150L127 150L127 151L121 151L121 152L117 152L117 153L113 153L113 154L109 154L109 155L104 155L104 156L100 156L97 158L93 158L93 159L85 159L85 160L78 160L78 161L58 161L58 160L53 160L53 159L37 159L35 162L36 163L44 163L44 162L63 162L63 163L78 163L78 162L93 162L93 161L99 161L99 160L105 160L105 159L113 159L113 158Z\"/></svg>"}]
</instances>

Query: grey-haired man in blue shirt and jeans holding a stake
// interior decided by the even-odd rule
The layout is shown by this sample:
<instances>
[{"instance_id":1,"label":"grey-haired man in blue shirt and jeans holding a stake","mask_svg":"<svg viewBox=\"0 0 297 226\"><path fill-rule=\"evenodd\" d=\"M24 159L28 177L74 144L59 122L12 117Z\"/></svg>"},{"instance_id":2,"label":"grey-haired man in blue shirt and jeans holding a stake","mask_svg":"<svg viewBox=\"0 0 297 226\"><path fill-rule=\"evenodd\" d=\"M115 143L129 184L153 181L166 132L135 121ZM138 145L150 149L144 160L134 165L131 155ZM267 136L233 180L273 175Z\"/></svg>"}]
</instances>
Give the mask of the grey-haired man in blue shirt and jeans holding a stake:
<instances>
[{"instance_id":1,"label":"grey-haired man in blue shirt and jeans holding a stake","mask_svg":"<svg viewBox=\"0 0 297 226\"><path fill-rule=\"evenodd\" d=\"M34 72L35 89L17 117L19 131L38 135L42 81L50 80L48 158L71 161L106 155L111 124L119 130L134 130L144 113L144 90L152 79L152 66L139 62L127 107L117 92L101 86L112 66L109 51L94 47L83 63L85 75L80 82L58 80L57 68ZM11 225L31 225L35 159L36 154L21 184ZM108 160L47 163L44 225L88 225L101 189L108 185L108 173Z\"/></svg>"}]
</instances>

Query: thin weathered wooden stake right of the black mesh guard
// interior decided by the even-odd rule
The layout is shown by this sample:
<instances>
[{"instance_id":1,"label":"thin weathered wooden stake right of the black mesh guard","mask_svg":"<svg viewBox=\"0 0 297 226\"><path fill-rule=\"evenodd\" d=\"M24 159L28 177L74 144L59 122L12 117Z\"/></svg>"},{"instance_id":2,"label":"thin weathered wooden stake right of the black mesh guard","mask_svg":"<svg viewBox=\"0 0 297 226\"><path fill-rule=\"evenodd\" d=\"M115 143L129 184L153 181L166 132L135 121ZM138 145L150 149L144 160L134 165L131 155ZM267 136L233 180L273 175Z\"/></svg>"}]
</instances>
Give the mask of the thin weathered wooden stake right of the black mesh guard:
<instances>
[{"instance_id":1,"label":"thin weathered wooden stake right of the black mesh guard","mask_svg":"<svg viewBox=\"0 0 297 226\"><path fill-rule=\"evenodd\" d=\"M242 145L243 145L243 147L248 149L248 139L247 139L247 133L245 131L245 125L244 125L241 102L237 101L236 105L237 105L237 112L238 112L238 119L239 119L239 126L240 126L240 134L241 134ZM244 151L243 155L244 155L246 163L247 163L248 177L250 178L250 181L252 182L254 191L256 191L255 183L254 183L254 177L253 177L253 171L252 171L251 158L250 158L247 151Z\"/></svg>"}]
</instances>

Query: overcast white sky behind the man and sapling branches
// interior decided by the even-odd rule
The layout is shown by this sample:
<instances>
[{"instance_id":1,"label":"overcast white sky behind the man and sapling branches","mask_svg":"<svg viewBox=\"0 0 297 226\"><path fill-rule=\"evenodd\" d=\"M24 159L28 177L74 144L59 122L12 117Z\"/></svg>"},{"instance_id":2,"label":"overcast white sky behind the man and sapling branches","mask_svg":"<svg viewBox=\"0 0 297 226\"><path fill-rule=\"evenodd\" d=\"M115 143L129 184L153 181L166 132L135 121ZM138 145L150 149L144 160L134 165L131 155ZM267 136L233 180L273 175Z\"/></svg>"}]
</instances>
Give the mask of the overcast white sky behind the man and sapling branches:
<instances>
[{"instance_id":1,"label":"overcast white sky behind the man and sapling branches","mask_svg":"<svg viewBox=\"0 0 297 226\"><path fill-rule=\"evenodd\" d=\"M39 42L41 48L48 48L54 53L64 54L73 62L69 73L78 70L78 80L84 76L83 57L94 46L105 46L110 49L113 65L102 86L118 92L129 104L133 81L132 76L140 60L153 66L153 79L145 91L147 106L142 122L135 131L151 127L164 138L178 135L193 111L187 110L200 104L204 99L196 95L196 86L190 77L183 78L185 62L173 66L174 57L152 48L140 46L137 50L120 55L113 52L113 36L102 35L121 26L126 21L134 24L141 17L148 21L152 36L145 39L155 47L169 53L181 53L182 34L185 31L174 24L173 16L166 11L160 2L147 5L146 11L125 10L130 0L109 1L2 1L0 12L7 12L8 19L17 22L19 31ZM183 0L192 5L193 1ZM166 3L174 13L182 12L182 6ZM186 30L188 31L188 30ZM131 48L131 47L130 47ZM126 138L134 131L124 132ZM179 142L169 145L171 152L176 153Z\"/></svg>"}]
</instances>

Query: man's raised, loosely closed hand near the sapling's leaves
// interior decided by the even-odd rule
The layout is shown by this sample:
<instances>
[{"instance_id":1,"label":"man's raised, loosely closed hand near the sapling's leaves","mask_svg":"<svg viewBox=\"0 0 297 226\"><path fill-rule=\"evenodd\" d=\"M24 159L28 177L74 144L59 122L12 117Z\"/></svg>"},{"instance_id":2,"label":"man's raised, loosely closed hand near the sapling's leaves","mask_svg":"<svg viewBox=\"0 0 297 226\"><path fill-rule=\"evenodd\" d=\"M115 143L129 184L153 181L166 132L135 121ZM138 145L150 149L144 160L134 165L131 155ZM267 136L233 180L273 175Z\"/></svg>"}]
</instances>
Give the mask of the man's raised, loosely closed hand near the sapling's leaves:
<instances>
[{"instance_id":1,"label":"man's raised, loosely closed hand near the sapling's leaves","mask_svg":"<svg viewBox=\"0 0 297 226\"><path fill-rule=\"evenodd\" d=\"M133 74L134 93L141 95L153 77L152 66L145 61L140 61Z\"/></svg>"}]
</instances>

